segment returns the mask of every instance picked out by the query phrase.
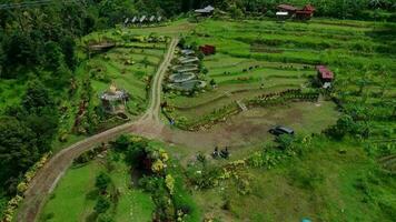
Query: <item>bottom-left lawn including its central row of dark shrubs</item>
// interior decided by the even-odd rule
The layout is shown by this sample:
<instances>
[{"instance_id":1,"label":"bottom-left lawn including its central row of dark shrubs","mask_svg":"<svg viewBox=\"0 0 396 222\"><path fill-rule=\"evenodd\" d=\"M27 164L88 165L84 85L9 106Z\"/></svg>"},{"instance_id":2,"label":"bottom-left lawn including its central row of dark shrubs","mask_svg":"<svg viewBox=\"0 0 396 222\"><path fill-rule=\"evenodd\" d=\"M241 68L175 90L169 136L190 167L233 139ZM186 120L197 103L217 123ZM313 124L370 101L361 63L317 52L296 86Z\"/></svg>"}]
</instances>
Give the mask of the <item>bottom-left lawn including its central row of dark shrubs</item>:
<instances>
[{"instance_id":1,"label":"bottom-left lawn including its central row of dark shrubs","mask_svg":"<svg viewBox=\"0 0 396 222\"><path fill-rule=\"evenodd\" d=\"M40 221L150 221L149 194L131 186L129 169L119 154L75 164L61 179L46 204ZM72 192L71 192L72 191Z\"/></svg>"}]
</instances>

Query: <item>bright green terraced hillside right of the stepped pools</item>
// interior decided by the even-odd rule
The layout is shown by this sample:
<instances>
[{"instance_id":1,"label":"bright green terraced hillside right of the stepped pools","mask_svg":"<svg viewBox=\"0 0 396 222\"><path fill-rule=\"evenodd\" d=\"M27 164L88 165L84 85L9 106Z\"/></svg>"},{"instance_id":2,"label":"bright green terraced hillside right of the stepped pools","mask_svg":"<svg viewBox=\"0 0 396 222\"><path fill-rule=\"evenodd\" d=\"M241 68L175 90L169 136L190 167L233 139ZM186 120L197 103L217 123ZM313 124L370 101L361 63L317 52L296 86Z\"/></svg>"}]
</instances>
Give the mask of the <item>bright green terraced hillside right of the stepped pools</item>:
<instances>
[{"instance_id":1,"label":"bright green terraced hillside right of the stepped pools","mask_svg":"<svg viewBox=\"0 0 396 222\"><path fill-rule=\"evenodd\" d=\"M166 99L175 117L195 119L232 101L288 89L309 90L315 65L326 64L336 73L330 98L348 103L345 109L370 110L376 119L372 123L380 130L384 115L394 112L383 104L396 97L395 29L393 24L319 19L309 23L206 20L186 41L217 48L217 54L202 62L208 70L205 79L217 87L194 97L176 93Z\"/></svg>"}]
</instances>

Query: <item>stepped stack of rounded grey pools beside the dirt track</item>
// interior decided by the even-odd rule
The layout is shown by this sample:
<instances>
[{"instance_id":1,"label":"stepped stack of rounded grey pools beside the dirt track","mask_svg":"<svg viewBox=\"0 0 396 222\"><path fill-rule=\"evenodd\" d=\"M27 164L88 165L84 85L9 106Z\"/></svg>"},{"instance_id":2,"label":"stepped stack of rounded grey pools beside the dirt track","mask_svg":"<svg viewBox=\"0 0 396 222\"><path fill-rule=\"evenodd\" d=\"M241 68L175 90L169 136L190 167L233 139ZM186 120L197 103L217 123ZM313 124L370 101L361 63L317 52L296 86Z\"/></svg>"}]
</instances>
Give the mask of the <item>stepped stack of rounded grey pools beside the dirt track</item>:
<instances>
[{"instance_id":1,"label":"stepped stack of rounded grey pools beside the dirt track","mask_svg":"<svg viewBox=\"0 0 396 222\"><path fill-rule=\"evenodd\" d=\"M169 75L169 89L191 92L206 87L205 81L198 80L199 59L194 50L181 50L176 63Z\"/></svg>"}]
</instances>

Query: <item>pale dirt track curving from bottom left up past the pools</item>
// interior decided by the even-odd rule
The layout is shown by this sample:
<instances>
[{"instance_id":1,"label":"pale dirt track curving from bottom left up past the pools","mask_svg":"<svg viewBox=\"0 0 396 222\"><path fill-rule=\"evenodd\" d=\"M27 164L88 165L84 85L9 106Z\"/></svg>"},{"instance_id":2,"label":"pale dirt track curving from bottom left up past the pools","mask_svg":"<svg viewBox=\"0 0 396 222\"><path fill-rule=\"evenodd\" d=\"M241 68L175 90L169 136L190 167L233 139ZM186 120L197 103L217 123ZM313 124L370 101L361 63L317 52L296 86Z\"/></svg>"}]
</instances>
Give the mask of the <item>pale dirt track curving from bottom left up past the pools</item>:
<instances>
[{"instance_id":1,"label":"pale dirt track curving from bottom left up past the pools","mask_svg":"<svg viewBox=\"0 0 396 222\"><path fill-rule=\"evenodd\" d=\"M17 221L34 222L38 219L41 206L47 195L53 190L59 179L72 163L72 160L98 143L113 140L122 133L133 133L148 138L161 138L164 124L160 122L159 111L162 91L164 75L172 60L178 39L172 39L167 54L152 80L149 108L146 113L136 122L129 122L108 131L101 132L86 140L82 140L57 153L37 173L31 181L24 200L18 212Z\"/></svg>"}]
</instances>

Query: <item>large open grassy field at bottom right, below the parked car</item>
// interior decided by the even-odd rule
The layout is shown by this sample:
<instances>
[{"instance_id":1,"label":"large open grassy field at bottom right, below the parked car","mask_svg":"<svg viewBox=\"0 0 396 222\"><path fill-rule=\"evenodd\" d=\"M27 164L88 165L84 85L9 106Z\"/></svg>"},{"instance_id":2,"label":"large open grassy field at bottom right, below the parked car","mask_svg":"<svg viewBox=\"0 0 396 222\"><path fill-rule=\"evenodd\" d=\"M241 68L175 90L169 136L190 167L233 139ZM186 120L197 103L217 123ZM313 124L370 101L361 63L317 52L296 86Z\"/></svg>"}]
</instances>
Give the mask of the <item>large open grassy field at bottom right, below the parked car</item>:
<instances>
[{"instance_id":1,"label":"large open grassy field at bottom right, below the parked car","mask_svg":"<svg viewBox=\"0 0 396 222\"><path fill-rule=\"evenodd\" d=\"M353 144L334 145L321 142L315 152L273 170L249 169L253 189L248 195L239 194L234 184L225 184L195 192L196 201L208 215L219 221L299 221L304 218L392 221L390 214L376 201L368 201L358 185L362 179L377 171L376 164ZM339 149L346 150L346 154L340 154ZM365 189L379 192L380 196L394 196L394 179L379 176L375 180L376 183L380 181L382 188L369 182Z\"/></svg>"}]
</instances>

